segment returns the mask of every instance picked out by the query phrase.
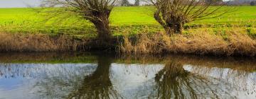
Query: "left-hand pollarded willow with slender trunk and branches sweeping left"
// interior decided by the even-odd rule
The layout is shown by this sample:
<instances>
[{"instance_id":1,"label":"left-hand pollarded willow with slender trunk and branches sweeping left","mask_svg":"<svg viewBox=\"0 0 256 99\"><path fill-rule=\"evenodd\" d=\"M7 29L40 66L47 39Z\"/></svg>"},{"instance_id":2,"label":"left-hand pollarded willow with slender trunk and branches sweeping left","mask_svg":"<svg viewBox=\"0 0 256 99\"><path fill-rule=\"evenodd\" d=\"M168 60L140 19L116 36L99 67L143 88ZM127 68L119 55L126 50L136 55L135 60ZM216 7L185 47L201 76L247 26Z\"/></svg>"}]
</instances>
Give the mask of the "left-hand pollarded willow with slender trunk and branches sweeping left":
<instances>
[{"instance_id":1,"label":"left-hand pollarded willow with slender trunk and branches sweeping left","mask_svg":"<svg viewBox=\"0 0 256 99\"><path fill-rule=\"evenodd\" d=\"M42 6L55 15L81 16L97 28L100 40L111 37L110 13L117 0L44 0ZM68 17L67 16L67 17Z\"/></svg>"}]
</instances>

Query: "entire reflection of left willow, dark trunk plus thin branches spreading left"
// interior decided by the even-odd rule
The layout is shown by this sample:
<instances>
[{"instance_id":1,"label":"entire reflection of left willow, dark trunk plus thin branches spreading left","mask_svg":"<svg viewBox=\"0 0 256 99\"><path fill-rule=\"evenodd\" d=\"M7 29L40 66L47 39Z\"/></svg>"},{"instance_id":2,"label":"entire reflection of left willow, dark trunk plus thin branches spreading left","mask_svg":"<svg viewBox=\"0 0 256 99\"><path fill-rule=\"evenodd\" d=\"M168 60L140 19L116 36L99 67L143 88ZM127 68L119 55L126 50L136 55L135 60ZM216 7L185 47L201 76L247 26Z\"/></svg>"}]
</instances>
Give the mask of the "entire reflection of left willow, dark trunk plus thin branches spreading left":
<instances>
[{"instance_id":1,"label":"entire reflection of left willow, dark trunk plus thin branches spreading left","mask_svg":"<svg viewBox=\"0 0 256 99\"><path fill-rule=\"evenodd\" d=\"M88 67L58 68L43 76L35 88L43 98L120 98L110 81L111 59L100 57L97 68L88 75Z\"/></svg>"}]
</instances>

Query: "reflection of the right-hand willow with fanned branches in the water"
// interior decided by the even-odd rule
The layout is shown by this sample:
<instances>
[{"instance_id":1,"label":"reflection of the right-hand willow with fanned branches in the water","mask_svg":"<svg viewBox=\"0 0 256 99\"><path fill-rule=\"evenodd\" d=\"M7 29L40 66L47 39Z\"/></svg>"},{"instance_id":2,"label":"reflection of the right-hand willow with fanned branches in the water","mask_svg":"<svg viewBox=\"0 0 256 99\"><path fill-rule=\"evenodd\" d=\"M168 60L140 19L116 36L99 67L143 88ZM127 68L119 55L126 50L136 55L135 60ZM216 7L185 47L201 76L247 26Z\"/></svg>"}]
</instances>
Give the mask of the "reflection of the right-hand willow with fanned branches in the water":
<instances>
[{"instance_id":1,"label":"reflection of the right-hand willow with fanned branches in the water","mask_svg":"<svg viewBox=\"0 0 256 99\"><path fill-rule=\"evenodd\" d=\"M149 98L235 98L230 86L214 78L204 78L183 69L183 64L167 62L154 78L156 85ZM223 82L222 82L223 83Z\"/></svg>"}]
</instances>

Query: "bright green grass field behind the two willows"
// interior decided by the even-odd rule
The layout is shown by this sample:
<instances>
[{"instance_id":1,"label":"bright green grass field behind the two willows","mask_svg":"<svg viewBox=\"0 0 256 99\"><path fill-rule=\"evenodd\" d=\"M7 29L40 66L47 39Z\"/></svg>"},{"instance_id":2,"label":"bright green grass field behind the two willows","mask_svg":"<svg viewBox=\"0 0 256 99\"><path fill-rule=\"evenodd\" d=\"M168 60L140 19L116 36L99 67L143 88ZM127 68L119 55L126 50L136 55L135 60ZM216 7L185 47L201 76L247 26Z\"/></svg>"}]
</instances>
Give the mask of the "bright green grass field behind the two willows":
<instances>
[{"instance_id":1,"label":"bright green grass field behind the two willows","mask_svg":"<svg viewBox=\"0 0 256 99\"><path fill-rule=\"evenodd\" d=\"M251 31L256 27L256 6L238 6L237 10L227 13L219 18L210 18L188 23L188 26L201 25L196 29L223 30L230 25L240 25ZM163 30L159 23L152 17L154 8L140 7L115 7L110 16L111 27L114 34L139 33L142 30L157 32ZM96 32L92 24L87 21L69 18L61 23L55 21L43 21L41 16L31 8L0 8L1 33L25 33L25 34L65 34L95 36ZM224 26L223 26L224 25Z\"/></svg>"}]
</instances>

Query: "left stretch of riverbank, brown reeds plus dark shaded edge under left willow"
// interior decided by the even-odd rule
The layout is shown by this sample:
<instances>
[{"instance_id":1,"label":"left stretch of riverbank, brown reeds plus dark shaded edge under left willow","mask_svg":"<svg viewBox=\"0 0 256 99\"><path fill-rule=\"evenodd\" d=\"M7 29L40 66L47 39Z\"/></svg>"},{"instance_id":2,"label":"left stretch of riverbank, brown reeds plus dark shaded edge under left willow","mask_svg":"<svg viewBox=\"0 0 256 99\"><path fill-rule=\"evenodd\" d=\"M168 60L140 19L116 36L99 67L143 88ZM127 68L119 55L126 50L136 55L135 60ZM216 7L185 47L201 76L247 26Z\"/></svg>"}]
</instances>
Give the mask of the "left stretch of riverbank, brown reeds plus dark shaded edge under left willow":
<instances>
[{"instance_id":1,"label":"left stretch of riverbank, brown reeds plus dark shaded edge under left willow","mask_svg":"<svg viewBox=\"0 0 256 99\"><path fill-rule=\"evenodd\" d=\"M24 35L0 33L0 52L77 52L108 50L114 42L70 35Z\"/></svg>"}]
</instances>

